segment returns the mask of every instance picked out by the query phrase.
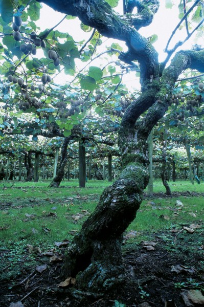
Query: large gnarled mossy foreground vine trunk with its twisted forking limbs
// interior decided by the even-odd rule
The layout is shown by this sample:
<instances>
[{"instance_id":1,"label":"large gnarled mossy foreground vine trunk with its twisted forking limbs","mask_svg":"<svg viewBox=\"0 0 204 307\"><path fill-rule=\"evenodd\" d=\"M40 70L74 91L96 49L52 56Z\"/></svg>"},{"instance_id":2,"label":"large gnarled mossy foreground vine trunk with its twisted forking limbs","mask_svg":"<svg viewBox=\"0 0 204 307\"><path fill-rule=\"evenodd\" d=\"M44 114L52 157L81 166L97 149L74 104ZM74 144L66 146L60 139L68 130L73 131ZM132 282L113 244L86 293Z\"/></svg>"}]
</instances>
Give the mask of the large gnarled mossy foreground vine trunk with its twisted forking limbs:
<instances>
[{"instance_id":1,"label":"large gnarled mossy foreground vine trunk with its twisted forking limbs","mask_svg":"<svg viewBox=\"0 0 204 307\"><path fill-rule=\"evenodd\" d=\"M98 206L74 237L64 259L64 277L76 277L78 289L102 296L123 282L122 234L134 219L148 184L147 137L167 111L179 74L187 68L204 71L204 51L180 51L167 69L164 69L165 63L158 63L153 46L137 31L151 23L158 0L134 2L138 14L131 18L137 30L102 0L39 1L65 14L78 16L85 25L96 28L104 36L124 40L128 52L121 53L120 59L126 63L138 60L140 64L142 94L127 108L119 129L123 171L119 180L104 190ZM139 121L137 125L136 121Z\"/></svg>"}]
</instances>

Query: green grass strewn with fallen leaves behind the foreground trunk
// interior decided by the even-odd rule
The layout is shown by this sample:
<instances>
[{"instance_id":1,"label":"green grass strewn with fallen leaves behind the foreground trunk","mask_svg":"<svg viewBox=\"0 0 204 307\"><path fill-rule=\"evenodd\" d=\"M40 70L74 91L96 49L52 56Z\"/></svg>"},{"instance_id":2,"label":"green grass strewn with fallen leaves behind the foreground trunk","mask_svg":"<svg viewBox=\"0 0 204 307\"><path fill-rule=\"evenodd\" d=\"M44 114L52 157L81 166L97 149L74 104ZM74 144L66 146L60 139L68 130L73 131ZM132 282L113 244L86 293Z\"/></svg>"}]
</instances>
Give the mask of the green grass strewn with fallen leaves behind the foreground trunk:
<instances>
[{"instance_id":1,"label":"green grass strewn with fallen leaves behind the foreground trunk","mask_svg":"<svg viewBox=\"0 0 204 307\"><path fill-rule=\"evenodd\" d=\"M58 189L47 188L49 182L1 182L0 184L0 268L11 265L8 278L17 274L12 266L19 261L35 261L36 254L29 254L27 245L39 247L42 252L55 247L55 242L72 239L73 233L81 228L88 214L93 212L100 194L110 183L89 181L86 188L78 188L77 181L63 181ZM172 191L202 192L203 183L170 182ZM8 188L5 188L5 187ZM154 182L154 191L164 191L159 180ZM171 231L200 223L203 214L203 197L179 197L183 207L176 206L176 199L151 199L142 202L137 218L127 232L139 234L128 239L138 244L149 239L155 232ZM195 213L194 214L192 214ZM194 215L194 216L193 216ZM79 217L79 218L78 218ZM196 238L199 242L199 233ZM183 235L183 233L182 233ZM172 238L166 235L167 248L171 249ZM5 276L4 276L5 278Z\"/></svg>"}]
</instances>

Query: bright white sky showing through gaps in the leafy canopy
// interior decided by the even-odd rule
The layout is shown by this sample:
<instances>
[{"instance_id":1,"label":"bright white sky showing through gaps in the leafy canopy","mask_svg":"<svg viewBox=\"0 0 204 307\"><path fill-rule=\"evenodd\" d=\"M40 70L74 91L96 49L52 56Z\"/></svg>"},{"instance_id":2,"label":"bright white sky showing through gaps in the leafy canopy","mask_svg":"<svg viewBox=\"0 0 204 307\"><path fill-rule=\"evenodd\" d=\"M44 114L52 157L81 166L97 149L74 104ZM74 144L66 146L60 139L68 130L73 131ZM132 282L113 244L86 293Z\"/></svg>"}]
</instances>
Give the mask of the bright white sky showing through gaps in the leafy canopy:
<instances>
[{"instance_id":1,"label":"bright white sky showing through gaps in the leafy canopy","mask_svg":"<svg viewBox=\"0 0 204 307\"><path fill-rule=\"evenodd\" d=\"M180 0L174 0L174 6L172 9L166 9L165 8L165 0L161 1L160 4L160 9L154 16L153 23L146 28L142 28L140 30L140 33L144 35L145 37L149 37L153 34L158 35L158 40L154 43L154 48L157 50L159 54L159 60L162 61L165 59L166 54L164 53L164 49L166 47L167 41L176 27L179 19L178 19L178 4L180 3ZM122 0L119 0L119 7L117 8L117 11L122 14ZM54 11L53 9L49 8L46 5L43 5L43 9L41 10L40 13L40 19L39 21L36 22L38 26L40 26L41 30L46 29L46 28L51 28L55 26L62 18L63 14ZM192 27L194 27L192 25ZM75 41L80 41L82 39L88 39L90 37L89 33L84 33L80 29L80 21L78 18L72 19L72 20L64 20L62 24L60 24L57 29L62 32L67 32L70 35L73 36ZM174 35L172 39L172 43L170 44L170 48L174 46L174 43L177 42L178 40L183 40L186 37L186 30L185 27L181 31L177 31L176 34ZM102 47L105 50L105 46L110 46L111 42L116 42L116 40L111 40L107 39L105 42L102 44ZM125 44L120 41L119 42L121 46L126 49ZM192 43L195 43L193 39L191 38L190 41L187 41L185 45L182 46L180 49L191 49L192 48ZM199 41L197 41L200 45L204 45L204 38L200 38ZM102 48L101 47L101 48ZM178 51L178 49L177 49ZM98 60L97 60L98 61ZM80 64L80 62L77 63L78 68L82 68L86 63ZM100 62L93 62L92 65L100 65ZM64 75L63 73L60 74L58 79L55 79L56 82L65 82L65 81L71 81L72 77ZM128 75L125 75L123 77L123 82L126 84L126 86L132 90L133 88L140 89L139 85L139 78L135 77L135 73L131 73Z\"/></svg>"}]
</instances>

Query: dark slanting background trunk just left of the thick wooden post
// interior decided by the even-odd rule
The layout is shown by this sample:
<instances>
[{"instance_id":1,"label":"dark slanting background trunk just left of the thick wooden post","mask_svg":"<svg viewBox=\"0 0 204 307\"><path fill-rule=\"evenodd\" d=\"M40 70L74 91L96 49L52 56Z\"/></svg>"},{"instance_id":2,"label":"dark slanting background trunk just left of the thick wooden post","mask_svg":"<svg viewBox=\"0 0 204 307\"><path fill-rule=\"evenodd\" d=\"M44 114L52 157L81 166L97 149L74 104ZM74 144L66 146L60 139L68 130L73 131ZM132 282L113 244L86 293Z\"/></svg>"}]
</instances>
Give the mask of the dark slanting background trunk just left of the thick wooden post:
<instances>
[{"instance_id":1,"label":"dark slanting background trunk just left of the thick wooden post","mask_svg":"<svg viewBox=\"0 0 204 307\"><path fill-rule=\"evenodd\" d=\"M68 147L69 142L70 142L70 138L65 137L63 140L62 148L61 148L61 157L60 157L60 162L59 162L58 167L56 164L58 155L57 155L57 158L55 158L55 165L56 165L55 169L57 170L56 170L55 177L53 178L49 187L58 188L64 177L64 169L65 169L66 161L67 161L67 147ZM59 150L59 148L57 149ZM56 149L56 152L57 152L57 149Z\"/></svg>"}]
</instances>

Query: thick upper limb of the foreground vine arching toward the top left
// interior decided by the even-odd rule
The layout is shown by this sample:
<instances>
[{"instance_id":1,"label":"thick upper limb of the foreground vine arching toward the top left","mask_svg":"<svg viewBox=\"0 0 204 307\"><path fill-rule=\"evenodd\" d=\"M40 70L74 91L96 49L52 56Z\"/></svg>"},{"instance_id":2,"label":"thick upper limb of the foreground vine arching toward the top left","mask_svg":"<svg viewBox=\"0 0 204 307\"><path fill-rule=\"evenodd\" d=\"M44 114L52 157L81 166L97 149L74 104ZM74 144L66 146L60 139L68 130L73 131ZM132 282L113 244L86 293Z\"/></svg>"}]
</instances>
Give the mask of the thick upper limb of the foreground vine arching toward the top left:
<instances>
[{"instance_id":1,"label":"thick upper limb of the foreground vine arching toward the top left","mask_svg":"<svg viewBox=\"0 0 204 307\"><path fill-rule=\"evenodd\" d=\"M158 74L158 56L151 43L137 30L134 30L127 21L115 14L106 2L94 0L37 1L47 4L61 13L78 16L85 25L96 28L106 37L125 41L129 51L123 56L123 60L131 58L131 60L139 61L142 82L146 79L150 80L151 75L155 77ZM158 7L158 1L154 2ZM146 3L146 6L149 6L152 1L149 0Z\"/></svg>"}]
</instances>

